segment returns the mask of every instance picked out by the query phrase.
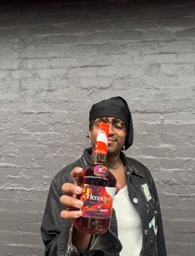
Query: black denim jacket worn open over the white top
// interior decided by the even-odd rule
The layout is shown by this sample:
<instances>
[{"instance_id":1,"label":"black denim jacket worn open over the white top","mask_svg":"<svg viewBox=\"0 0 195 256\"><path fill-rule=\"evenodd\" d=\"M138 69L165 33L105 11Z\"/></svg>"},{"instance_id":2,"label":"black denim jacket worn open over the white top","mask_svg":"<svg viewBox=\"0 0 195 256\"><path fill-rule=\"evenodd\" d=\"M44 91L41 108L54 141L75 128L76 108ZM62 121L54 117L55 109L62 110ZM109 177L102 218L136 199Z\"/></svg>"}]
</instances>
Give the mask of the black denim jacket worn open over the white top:
<instances>
[{"instance_id":1,"label":"black denim jacket worn open over the white top","mask_svg":"<svg viewBox=\"0 0 195 256\"><path fill-rule=\"evenodd\" d=\"M61 186L64 182L72 182L70 171L74 167L84 168L92 164L89 157L91 150L85 149L83 156L78 161L64 167L51 182L41 225L45 256L118 256L120 254L122 245L117 239L117 218L114 210L110 229L106 234L93 236L88 250L83 254L79 254L72 244L73 226L68 220L61 219L59 215L60 211L64 210L64 206L59 202L59 197L63 195ZM126 157L122 152L121 159L126 166L129 197L139 213L142 223L141 256L166 256L159 200L150 171L135 159Z\"/></svg>"}]
</instances>

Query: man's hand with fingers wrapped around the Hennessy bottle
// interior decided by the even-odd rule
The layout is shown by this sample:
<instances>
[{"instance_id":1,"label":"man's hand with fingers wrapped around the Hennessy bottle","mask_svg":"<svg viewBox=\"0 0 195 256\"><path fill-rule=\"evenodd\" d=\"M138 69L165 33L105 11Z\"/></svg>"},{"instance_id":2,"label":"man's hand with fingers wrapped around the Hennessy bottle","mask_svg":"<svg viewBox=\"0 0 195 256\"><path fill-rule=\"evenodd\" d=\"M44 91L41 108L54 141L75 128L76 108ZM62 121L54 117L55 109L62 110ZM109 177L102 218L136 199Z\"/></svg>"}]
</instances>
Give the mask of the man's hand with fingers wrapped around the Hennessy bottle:
<instances>
[{"instance_id":1,"label":"man's hand with fingers wrapped around the Hennessy bottle","mask_svg":"<svg viewBox=\"0 0 195 256\"><path fill-rule=\"evenodd\" d=\"M82 188L77 186L78 184L78 174L83 171L80 167L75 167L71 171L71 176L74 183L64 183L62 186L62 191L64 191L64 196L60 197L60 202L62 205L66 206L65 210L60 212L61 218L70 220L74 223L74 220L80 217L81 209L83 207L83 201L76 198L77 195L82 193Z\"/></svg>"}]
</instances>

